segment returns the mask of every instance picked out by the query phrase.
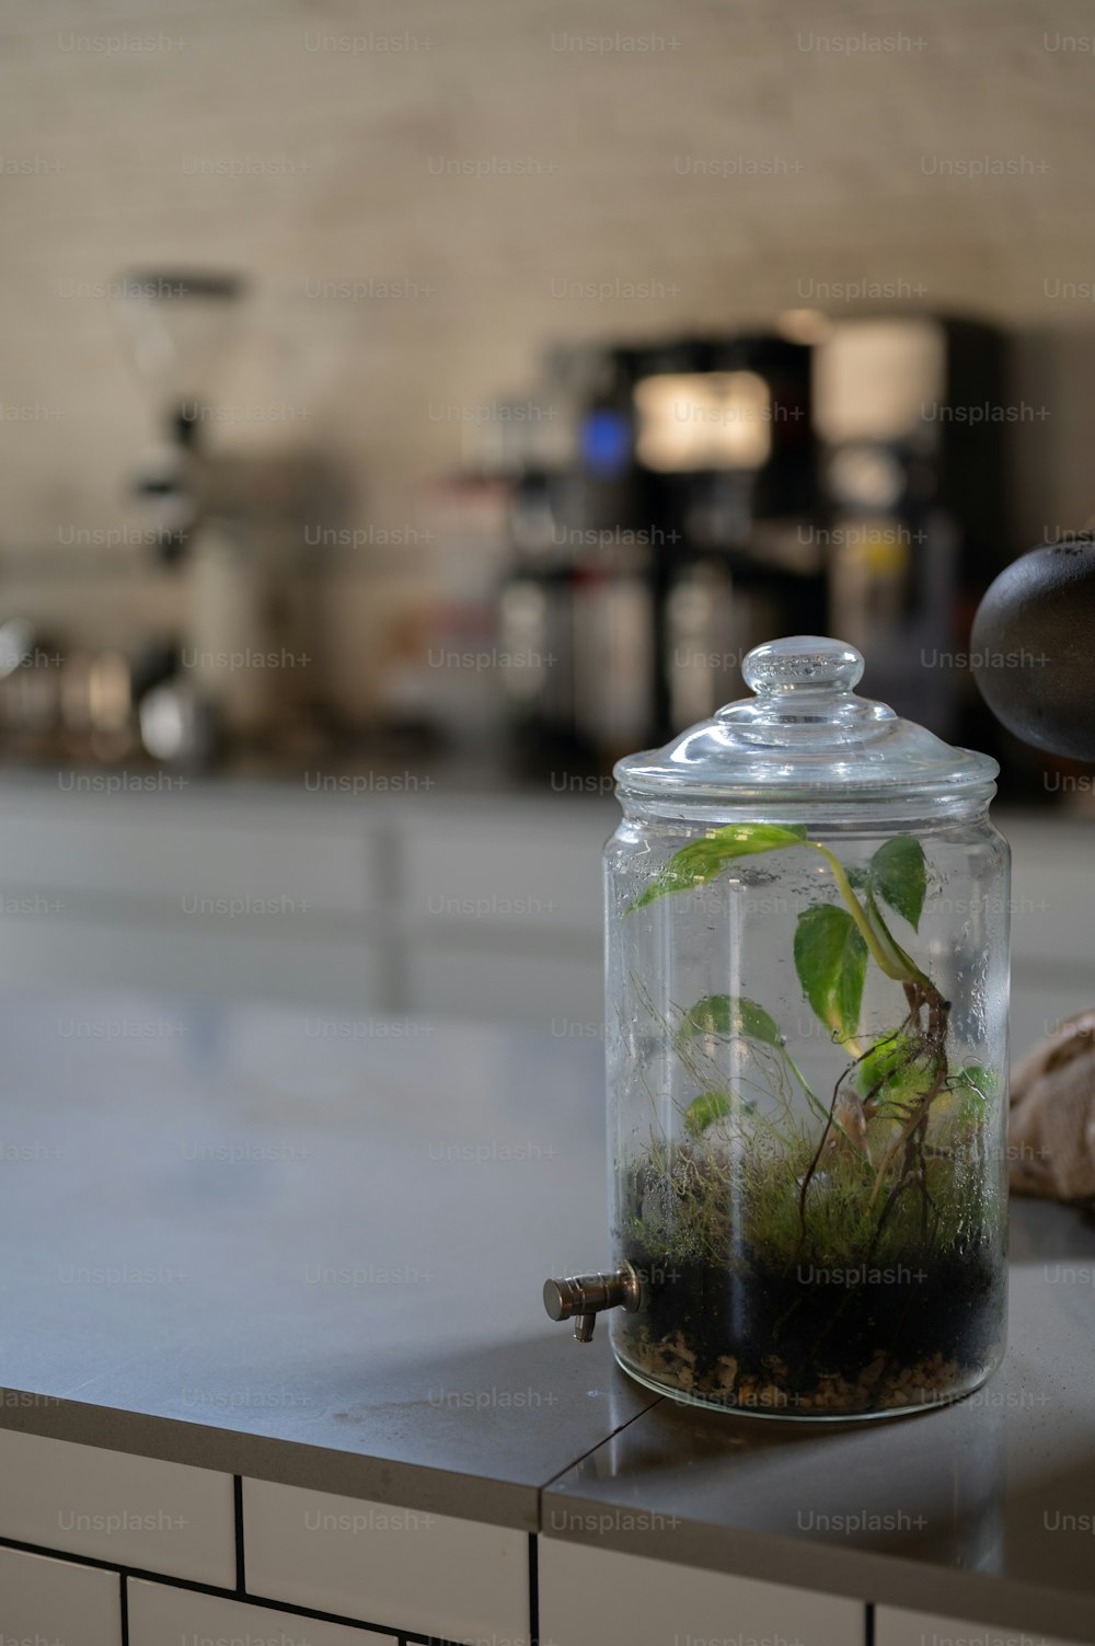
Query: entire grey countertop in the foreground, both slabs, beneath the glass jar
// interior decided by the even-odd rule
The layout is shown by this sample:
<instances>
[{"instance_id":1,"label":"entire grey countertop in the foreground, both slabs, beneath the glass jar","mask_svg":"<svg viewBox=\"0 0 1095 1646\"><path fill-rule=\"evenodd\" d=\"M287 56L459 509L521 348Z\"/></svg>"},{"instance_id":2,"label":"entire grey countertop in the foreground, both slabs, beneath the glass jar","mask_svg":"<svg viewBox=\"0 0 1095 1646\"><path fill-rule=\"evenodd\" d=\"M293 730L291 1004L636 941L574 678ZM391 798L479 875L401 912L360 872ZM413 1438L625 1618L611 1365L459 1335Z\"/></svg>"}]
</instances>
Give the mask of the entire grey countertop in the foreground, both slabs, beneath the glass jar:
<instances>
[{"instance_id":1,"label":"entire grey countertop in the foreground, both slabs, beneath the glass jar","mask_svg":"<svg viewBox=\"0 0 1095 1646\"><path fill-rule=\"evenodd\" d=\"M547 1322L606 1254L593 1042L0 1004L0 1425L1095 1638L1095 1233L1016 1205L1004 1369L942 1412L657 1401Z\"/></svg>"}]
</instances>

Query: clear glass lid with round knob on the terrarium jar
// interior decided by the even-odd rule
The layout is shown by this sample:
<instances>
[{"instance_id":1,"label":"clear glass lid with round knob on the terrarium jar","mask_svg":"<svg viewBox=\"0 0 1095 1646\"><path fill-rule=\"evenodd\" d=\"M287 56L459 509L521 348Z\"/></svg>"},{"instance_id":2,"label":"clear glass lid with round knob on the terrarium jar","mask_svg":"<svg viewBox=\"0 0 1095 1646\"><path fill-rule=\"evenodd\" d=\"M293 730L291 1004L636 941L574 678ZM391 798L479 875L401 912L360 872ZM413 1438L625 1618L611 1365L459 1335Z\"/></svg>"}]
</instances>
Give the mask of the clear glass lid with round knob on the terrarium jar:
<instances>
[{"instance_id":1,"label":"clear glass lid with round knob on the terrarium jar","mask_svg":"<svg viewBox=\"0 0 1095 1646\"><path fill-rule=\"evenodd\" d=\"M741 665L751 698L728 703L664 749L617 760L621 795L780 800L991 797L999 767L953 749L884 703L860 698L863 657L812 634L757 645Z\"/></svg>"}]
</instances>

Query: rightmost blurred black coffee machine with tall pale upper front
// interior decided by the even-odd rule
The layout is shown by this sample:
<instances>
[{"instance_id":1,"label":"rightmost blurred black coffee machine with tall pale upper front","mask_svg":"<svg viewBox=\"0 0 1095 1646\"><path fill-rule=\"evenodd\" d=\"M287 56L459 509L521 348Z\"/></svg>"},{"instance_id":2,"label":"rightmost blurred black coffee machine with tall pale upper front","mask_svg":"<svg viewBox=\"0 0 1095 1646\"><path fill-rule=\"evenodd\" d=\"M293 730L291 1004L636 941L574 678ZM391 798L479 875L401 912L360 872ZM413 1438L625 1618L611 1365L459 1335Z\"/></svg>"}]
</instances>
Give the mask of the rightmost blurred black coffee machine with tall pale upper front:
<instances>
[{"instance_id":1,"label":"rightmost blurred black coffee machine with tall pale upper front","mask_svg":"<svg viewBox=\"0 0 1095 1646\"><path fill-rule=\"evenodd\" d=\"M815 349L813 384L827 632L863 652L899 714L981 747L968 632L1018 548L1004 339L934 316L841 321Z\"/></svg>"}]
</instances>

